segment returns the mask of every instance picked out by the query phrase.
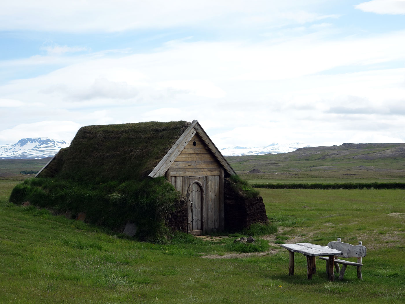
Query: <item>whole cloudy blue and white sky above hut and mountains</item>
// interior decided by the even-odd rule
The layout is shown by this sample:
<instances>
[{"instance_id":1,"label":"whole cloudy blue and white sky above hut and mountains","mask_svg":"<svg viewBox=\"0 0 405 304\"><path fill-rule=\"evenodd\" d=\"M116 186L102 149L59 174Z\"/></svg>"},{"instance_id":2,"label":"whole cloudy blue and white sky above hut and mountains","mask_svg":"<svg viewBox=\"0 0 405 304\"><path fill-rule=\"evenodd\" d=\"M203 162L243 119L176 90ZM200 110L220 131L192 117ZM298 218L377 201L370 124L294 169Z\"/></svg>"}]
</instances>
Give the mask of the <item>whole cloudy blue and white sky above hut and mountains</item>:
<instances>
[{"instance_id":1,"label":"whole cloudy blue and white sky above hut and mountains","mask_svg":"<svg viewBox=\"0 0 405 304\"><path fill-rule=\"evenodd\" d=\"M194 119L218 148L405 142L405 0L13 0L0 145Z\"/></svg>"}]
</instances>

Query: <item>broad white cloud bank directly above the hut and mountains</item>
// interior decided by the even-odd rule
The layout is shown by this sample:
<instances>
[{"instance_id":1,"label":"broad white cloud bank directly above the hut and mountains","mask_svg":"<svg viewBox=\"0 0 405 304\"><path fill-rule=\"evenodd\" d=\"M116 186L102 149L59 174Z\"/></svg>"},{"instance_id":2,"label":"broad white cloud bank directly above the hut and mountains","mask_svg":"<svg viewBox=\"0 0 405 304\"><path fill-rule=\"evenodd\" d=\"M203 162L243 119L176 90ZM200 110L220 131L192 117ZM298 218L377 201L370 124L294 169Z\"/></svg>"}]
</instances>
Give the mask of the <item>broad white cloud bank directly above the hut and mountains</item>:
<instances>
[{"instance_id":1,"label":"broad white cloud bank directly above the hut and mountains","mask_svg":"<svg viewBox=\"0 0 405 304\"><path fill-rule=\"evenodd\" d=\"M72 54L74 63L62 69L0 86L2 98L25 105L0 111L6 124L0 140L23 130L22 137L55 137L49 132L58 130L62 137L79 125L193 119L218 147L401 139L405 69L388 67L403 65L404 35L305 35L258 43L189 39L151 53ZM21 124L36 120L75 125Z\"/></svg>"}]
</instances>

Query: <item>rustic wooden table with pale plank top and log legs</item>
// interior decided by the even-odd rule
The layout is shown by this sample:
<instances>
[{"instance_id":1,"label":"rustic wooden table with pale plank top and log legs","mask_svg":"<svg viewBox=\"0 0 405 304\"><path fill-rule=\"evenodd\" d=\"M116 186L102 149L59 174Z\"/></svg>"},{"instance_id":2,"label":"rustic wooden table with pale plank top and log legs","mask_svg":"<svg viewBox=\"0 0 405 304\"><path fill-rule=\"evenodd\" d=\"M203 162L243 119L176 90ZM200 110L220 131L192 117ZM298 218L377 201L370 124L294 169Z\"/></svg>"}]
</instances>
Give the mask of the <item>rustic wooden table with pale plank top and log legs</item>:
<instances>
[{"instance_id":1,"label":"rustic wooden table with pale plank top and log legs","mask_svg":"<svg viewBox=\"0 0 405 304\"><path fill-rule=\"evenodd\" d=\"M308 280L312 280L312 275L316 272L315 257L328 255L328 279L335 280L335 272L333 265L335 255L343 255L342 251L329 248L328 246L320 246L311 243L296 243L296 244L282 244L280 245L290 251L290 266L288 268L288 275L294 275L294 253L302 253L307 257L307 275Z\"/></svg>"}]
</instances>

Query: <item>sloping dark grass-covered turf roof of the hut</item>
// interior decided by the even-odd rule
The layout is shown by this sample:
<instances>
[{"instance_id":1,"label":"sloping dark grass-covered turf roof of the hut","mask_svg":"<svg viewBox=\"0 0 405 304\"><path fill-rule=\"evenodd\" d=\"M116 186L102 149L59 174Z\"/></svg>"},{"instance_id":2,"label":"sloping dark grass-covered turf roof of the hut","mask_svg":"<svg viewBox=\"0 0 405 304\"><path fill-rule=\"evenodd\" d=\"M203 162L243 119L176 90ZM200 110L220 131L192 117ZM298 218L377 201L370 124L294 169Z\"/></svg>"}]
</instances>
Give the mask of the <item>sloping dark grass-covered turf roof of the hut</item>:
<instances>
[{"instance_id":1,"label":"sloping dark grass-covered turf roof of the hut","mask_svg":"<svg viewBox=\"0 0 405 304\"><path fill-rule=\"evenodd\" d=\"M85 126L38 177L72 180L141 180L190 123L139 122Z\"/></svg>"}]
</instances>

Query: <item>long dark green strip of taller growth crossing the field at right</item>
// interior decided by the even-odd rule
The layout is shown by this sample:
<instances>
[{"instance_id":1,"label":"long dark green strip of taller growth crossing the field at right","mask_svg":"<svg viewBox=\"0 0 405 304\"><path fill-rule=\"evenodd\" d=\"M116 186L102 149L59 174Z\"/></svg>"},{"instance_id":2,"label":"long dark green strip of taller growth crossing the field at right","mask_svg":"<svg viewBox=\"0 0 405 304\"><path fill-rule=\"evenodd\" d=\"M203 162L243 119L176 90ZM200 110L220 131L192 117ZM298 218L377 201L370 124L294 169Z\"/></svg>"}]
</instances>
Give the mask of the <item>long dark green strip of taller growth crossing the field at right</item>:
<instances>
[{"instance_id":1,"label":"long dark green strip of taller growth crossing the field at right","mask_svg":"<svg viewBox=\"0 0 405 304\"><path fill-rule=\"evenodd\" d=\"M252 184L253 188L264 189L405 189L405 183L288 183L288 184Z\"/></svg>"}]
</instances>

